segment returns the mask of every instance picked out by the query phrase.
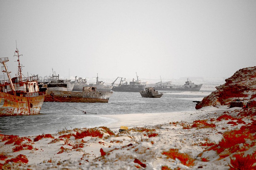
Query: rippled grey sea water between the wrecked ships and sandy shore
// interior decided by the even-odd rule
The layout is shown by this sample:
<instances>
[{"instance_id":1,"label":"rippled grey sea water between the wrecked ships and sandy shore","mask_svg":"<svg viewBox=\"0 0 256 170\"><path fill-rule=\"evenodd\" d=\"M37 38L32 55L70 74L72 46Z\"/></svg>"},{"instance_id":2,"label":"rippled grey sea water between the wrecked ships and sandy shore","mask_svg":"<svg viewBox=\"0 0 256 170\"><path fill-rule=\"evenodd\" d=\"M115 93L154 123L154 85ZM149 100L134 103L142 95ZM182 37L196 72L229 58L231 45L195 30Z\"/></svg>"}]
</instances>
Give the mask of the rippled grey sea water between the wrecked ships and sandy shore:
<instances>
[{"instance_id":1,"label":"rippled grey sea water between the wrecked ships and sandy shore","mask_svg":"<svg viewBox=\"0 0 256 170\"><path fill-rule=\"evenodd\" d=\"M204 97L195 93L165 92L161 98L143 98L140 93L133 92L113 92L109 103L45 102L39 115L0 117L0 133L31 136L55 133L64 128L106 126L115 121L100 115L193 111L196 103L192 101Z\"/></svg>"}]
</instances>

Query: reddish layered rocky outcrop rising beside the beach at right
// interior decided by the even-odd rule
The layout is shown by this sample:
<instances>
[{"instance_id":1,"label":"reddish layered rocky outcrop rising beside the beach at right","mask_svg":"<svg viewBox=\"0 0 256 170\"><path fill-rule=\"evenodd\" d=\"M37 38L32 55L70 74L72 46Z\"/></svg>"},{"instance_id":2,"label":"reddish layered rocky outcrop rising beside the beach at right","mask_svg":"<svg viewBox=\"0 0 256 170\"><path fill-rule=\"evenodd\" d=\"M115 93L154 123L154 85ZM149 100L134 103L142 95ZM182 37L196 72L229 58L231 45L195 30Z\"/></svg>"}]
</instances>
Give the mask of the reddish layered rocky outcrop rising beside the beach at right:
<instances>
[{"instance_id":1,"label":"reddish layered rocky outcrop rising beside the beach at right","mask_svg":"<svg viewBox=\"0 0 256 170\"><path fill-rule=\"evenodd\" d=\"M216 91L197 103L196 109L206 106L230 105L233 101L242 101L246 107L255 107L256 66L240 69L225 81L225 84L216 87Z\"/></svg>"}]
</instances>

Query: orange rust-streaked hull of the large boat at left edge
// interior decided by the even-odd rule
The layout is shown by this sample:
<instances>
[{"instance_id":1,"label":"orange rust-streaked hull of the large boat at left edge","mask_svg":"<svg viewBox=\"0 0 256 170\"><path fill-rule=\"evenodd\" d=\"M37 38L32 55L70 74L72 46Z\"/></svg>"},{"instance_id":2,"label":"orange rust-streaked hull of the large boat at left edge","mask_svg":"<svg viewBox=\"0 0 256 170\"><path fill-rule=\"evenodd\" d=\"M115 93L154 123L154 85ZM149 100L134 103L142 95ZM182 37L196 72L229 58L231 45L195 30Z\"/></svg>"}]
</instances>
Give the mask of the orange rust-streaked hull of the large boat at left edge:
<instances>
[{"instance_id":1,"label":"orange rust-streaked hull of the large boat at left edge","mask_svg":"<svg viewBox=\"0 0 256 170\"><path fill-rule=\"evenodd\" d=\"M0 92L0 117L39 114L44 97L20 97Z\"/></svg>"}]
</instances>

